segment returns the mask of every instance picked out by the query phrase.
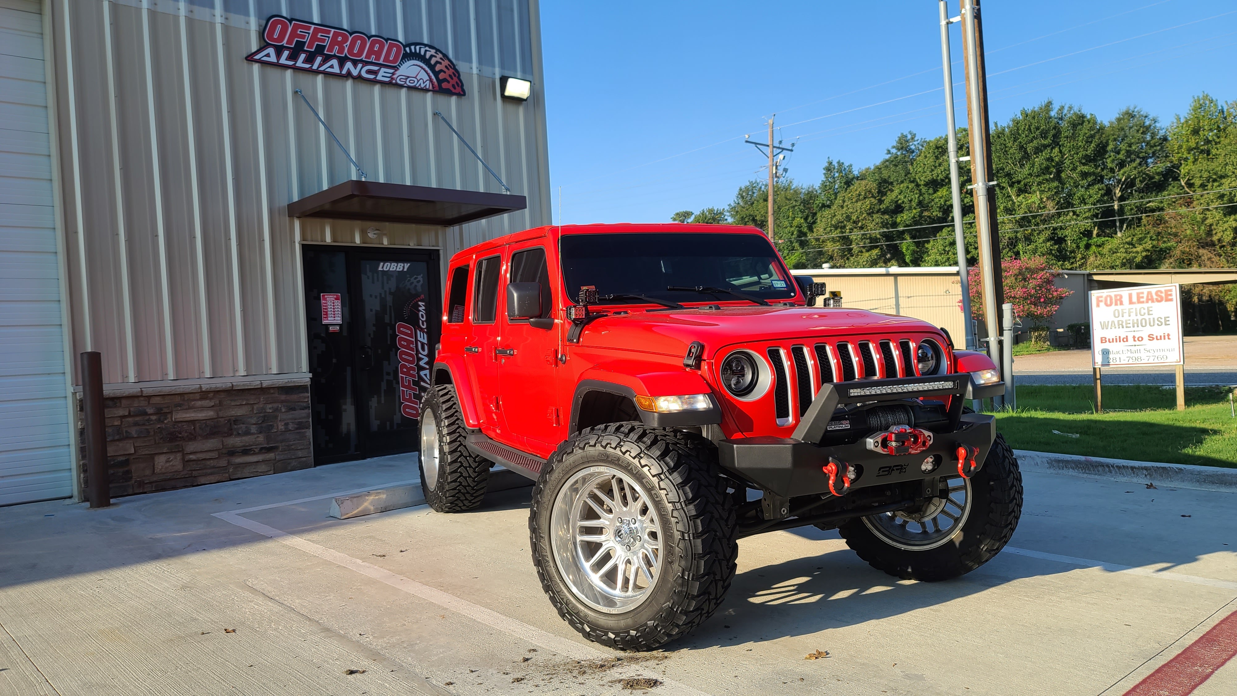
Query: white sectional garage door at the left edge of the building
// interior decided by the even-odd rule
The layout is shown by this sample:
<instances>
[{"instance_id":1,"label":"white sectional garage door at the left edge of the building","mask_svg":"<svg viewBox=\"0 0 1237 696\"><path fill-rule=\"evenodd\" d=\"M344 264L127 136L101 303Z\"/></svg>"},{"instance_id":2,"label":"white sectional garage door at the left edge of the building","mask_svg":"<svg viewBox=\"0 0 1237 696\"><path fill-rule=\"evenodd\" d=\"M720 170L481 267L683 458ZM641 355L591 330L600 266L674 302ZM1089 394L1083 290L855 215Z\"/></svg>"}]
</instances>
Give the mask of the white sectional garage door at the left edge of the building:
<instances>
[{"instance_id":1,"label":"white sectional garage door at the left edge of the building","mask_svg":"<svg viewBox=\"0 0 1237 696\"><path fill-rule=\"evenodd\" d=\"M0 0L0 506L71 482L64 347L37 0Z\"/></svg>"}]
</instances>

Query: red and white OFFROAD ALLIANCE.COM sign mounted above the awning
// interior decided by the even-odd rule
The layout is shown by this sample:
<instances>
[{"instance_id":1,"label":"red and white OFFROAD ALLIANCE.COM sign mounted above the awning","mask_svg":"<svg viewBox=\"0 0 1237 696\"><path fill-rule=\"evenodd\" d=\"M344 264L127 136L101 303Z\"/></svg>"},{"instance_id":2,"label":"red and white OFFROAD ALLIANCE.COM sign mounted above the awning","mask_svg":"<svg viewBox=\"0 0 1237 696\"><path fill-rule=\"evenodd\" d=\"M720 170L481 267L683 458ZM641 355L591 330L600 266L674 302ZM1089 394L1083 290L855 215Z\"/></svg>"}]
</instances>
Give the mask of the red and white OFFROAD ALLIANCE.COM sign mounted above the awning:
<instances>
[{"instance_id":1,"label":"red and white OFFROAD ALLIANCE.COM sign mounted above the awning","mask_svg":"<svg viewBox=\"0 0 1237 696\"><path fill-rule=\"evenodd\" d=\"M262 38L266 45L246 61L464 96L455 63L428 43L406 45L282 15L267 17Z\"/></svg>"}]
</instances>

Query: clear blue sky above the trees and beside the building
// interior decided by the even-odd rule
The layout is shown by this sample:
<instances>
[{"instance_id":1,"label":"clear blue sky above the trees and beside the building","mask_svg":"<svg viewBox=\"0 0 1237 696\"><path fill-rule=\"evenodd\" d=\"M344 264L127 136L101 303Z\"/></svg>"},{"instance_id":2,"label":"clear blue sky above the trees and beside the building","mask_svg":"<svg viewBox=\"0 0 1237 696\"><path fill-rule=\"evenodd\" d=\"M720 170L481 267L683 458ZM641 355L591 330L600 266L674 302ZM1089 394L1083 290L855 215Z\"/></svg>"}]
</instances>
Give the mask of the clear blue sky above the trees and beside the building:
<instances>
[{"instance_id":1,"label":"clear blue sky above the trees and beside the building","mask_svg":"<svg viewBox=\"0 0 1237 696\"><path fill-rule=\"evenodd\" d=\"M542 0L541 12L555 223L725 206L766 177L743 136L763 141L773 112L802 183L829 157L866 167L899 132L945 132L935 0ZM1166 124L1201 91L1237 99L1232 0L988 0L983 12L997 121L1051 99ZM951 36L956 83L957 25ZM965 122L961 87L955 99Z\"/></svg>"}]
</instances>

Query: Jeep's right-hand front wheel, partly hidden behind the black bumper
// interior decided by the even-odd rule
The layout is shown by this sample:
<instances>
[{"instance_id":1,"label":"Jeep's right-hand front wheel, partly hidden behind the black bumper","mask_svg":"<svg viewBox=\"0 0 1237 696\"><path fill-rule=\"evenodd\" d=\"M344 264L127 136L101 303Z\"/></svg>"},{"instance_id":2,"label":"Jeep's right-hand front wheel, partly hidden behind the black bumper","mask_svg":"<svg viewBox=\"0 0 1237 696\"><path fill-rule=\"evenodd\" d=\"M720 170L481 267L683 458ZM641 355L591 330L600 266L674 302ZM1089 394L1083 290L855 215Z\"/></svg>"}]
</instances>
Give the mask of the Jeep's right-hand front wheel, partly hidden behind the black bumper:
<instances>
[{"instance_id":1,"label":"Jeep's right-hand front wheel, partly hidden behind the black bumper","mask_svg":"<svg viewBox=\"0 0 1237 696\"><path fill-rule=\"evenodd\" d=\"M915 509L852 519L839 532L861 559L903 580L949 580L997 555L1022 513L1022 473L999 434L970 478L943 477L944 497Z\"/></svg>"}]
</instances>

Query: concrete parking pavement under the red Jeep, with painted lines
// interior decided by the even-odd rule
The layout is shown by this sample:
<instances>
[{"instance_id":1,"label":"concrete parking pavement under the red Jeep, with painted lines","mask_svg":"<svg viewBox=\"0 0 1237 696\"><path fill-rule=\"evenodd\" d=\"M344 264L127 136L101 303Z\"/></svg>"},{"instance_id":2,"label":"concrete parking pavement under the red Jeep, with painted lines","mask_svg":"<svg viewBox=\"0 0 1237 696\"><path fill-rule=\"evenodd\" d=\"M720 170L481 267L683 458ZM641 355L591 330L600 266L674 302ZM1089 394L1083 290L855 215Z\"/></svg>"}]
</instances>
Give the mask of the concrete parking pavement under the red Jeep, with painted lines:
<instances>
[{"instance_id":1,"label":"concrete parking pavement under the red Jeep, with painted lines","mask_svg":"<svg viewBox=\"0 0 1237 696\"><path fill-rule=\"evenodd\" d=\"M0 509L0 692L621 694L656 679L664 694L1121 695L1153 675L1136 694L1184 694L1165 677L1237 650L1232 493L1028 472L1011 546L941 584L878 572L833 532L748 538L717 614L636 655L583 642L543 597L529 488L465 514L325 517L332 493L414 476L387 457L104 511ZM1235 692L1237 660L1194 691Z\"/></svg>"}]
</instances>

